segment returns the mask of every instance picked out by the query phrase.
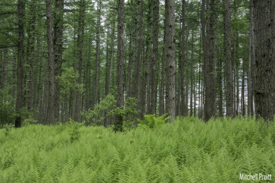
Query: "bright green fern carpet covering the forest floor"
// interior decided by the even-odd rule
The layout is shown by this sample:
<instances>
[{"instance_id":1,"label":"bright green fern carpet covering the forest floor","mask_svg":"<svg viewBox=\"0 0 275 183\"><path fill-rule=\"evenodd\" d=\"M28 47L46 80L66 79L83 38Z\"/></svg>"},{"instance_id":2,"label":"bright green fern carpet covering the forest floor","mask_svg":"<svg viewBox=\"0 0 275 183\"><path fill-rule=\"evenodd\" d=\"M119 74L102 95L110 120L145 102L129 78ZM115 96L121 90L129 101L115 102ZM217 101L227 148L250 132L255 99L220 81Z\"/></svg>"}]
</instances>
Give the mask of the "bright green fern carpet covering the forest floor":
<instances>
[{"instance_id":1,"label":"bright green fern carpet covering the forest floor","mask_svg":"<svg viewBox=\"0 0 275 183\"><path fill-rule=\"evenodd\" d=\"M240 173L275 176L274 145L274 125L249 119L177 119L116 134L29 125L0 130L0 182L242 182Z\"/></svg>"}]
</instances>

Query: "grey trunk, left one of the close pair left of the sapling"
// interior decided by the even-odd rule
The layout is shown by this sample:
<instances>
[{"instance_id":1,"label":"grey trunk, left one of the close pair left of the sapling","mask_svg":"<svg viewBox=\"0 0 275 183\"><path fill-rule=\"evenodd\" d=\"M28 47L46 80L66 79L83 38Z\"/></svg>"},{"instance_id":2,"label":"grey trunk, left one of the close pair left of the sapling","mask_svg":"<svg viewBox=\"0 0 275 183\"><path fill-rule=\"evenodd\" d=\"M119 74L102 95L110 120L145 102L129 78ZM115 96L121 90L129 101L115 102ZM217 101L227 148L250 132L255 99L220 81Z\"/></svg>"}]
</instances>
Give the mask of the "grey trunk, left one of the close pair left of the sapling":
<instances>
[{"instance_id":1,"label":"grey trunk, left one of the close pair left of the sapling","mask_svg":"<svg viewBox=\"0 0 275 183\"><path fill-rule=\"evenodd\" d=\"M54 121L54 91L55 91L55 63L54 63L54 37L52 32L52 1L46 0L46 16L47 16L47 62L49 66L49 100L47 104L46 123L53 124Z\"/></svg>"}]
</instances>

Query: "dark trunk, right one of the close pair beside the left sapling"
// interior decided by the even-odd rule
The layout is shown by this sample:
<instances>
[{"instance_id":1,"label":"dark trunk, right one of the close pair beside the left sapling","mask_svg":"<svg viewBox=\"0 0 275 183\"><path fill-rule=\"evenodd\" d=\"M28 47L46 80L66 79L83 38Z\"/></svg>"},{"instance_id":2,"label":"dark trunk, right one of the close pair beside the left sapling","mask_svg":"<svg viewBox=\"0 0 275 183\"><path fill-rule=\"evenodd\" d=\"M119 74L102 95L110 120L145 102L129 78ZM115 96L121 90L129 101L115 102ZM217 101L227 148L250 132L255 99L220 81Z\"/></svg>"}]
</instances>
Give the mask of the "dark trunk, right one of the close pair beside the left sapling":
<instances>
[{"instance_id":1,"label":"dark trunk, right one of the close pair beside the left sapling","mask_svg":"<svg viewBox=\"0 0 275 183\"><path fill-rule=\"evenodd\" d=\"M54 63L55 70L54 76L61 77L61 66L62 66L62 55L63 55L63 12L64 0L55 1L55 12L54 12ZM60 113L60 91L61 86L58 80L55 80L55 91L54 91L54 119L59 120Z\"/></svg>"}]
</instances>

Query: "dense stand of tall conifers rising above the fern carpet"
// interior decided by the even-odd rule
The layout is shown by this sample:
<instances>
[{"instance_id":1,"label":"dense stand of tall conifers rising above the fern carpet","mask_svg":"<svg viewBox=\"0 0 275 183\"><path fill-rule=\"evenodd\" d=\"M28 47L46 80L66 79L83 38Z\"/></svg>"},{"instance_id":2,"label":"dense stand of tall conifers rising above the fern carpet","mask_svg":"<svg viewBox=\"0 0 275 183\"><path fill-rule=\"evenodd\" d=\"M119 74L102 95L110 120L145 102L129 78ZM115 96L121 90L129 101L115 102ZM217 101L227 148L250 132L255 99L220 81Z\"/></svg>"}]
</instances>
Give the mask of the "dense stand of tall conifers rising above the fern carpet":
<instances>
[{"instance_id":1,"label":"dense stand of tall conifers rising above the fern carpet","mask_svg":"<svg viewBox=\"0 0 275 183\"><path fill-rule=\"evenodd\" d=\"M273 121L274 10L267 0L1 0L0 123Z\"/></svg>"}]
</instances>

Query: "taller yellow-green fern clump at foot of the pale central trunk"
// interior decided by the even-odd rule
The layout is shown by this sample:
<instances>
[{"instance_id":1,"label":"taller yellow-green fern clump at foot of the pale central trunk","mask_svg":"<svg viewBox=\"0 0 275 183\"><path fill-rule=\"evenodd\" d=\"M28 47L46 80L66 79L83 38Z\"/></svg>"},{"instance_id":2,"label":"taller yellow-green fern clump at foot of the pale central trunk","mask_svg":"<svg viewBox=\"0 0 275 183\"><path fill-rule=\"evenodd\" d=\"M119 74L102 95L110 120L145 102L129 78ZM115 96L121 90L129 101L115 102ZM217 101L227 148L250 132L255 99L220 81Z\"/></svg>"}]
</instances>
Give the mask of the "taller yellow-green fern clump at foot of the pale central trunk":
<instances>
[{"instance_id":1,"label":"taller yellow-green fern clump at foot of the pale central trunk","mask_svg":"<svg viewBox=\"0 0 275 183\"><path fill-rule=\"evenodd\" d=\"M166 117L167 114L163 114L161 117L155 117L155 114L147 114L144 115L144 121L141 119L137 119L138 122L140 122L140 127L143 128L154 128L159 125L163 125L165 121L170 119L170 117ZM166 117L166 118L165 118Z\"/></svg>"}]
</instances>

